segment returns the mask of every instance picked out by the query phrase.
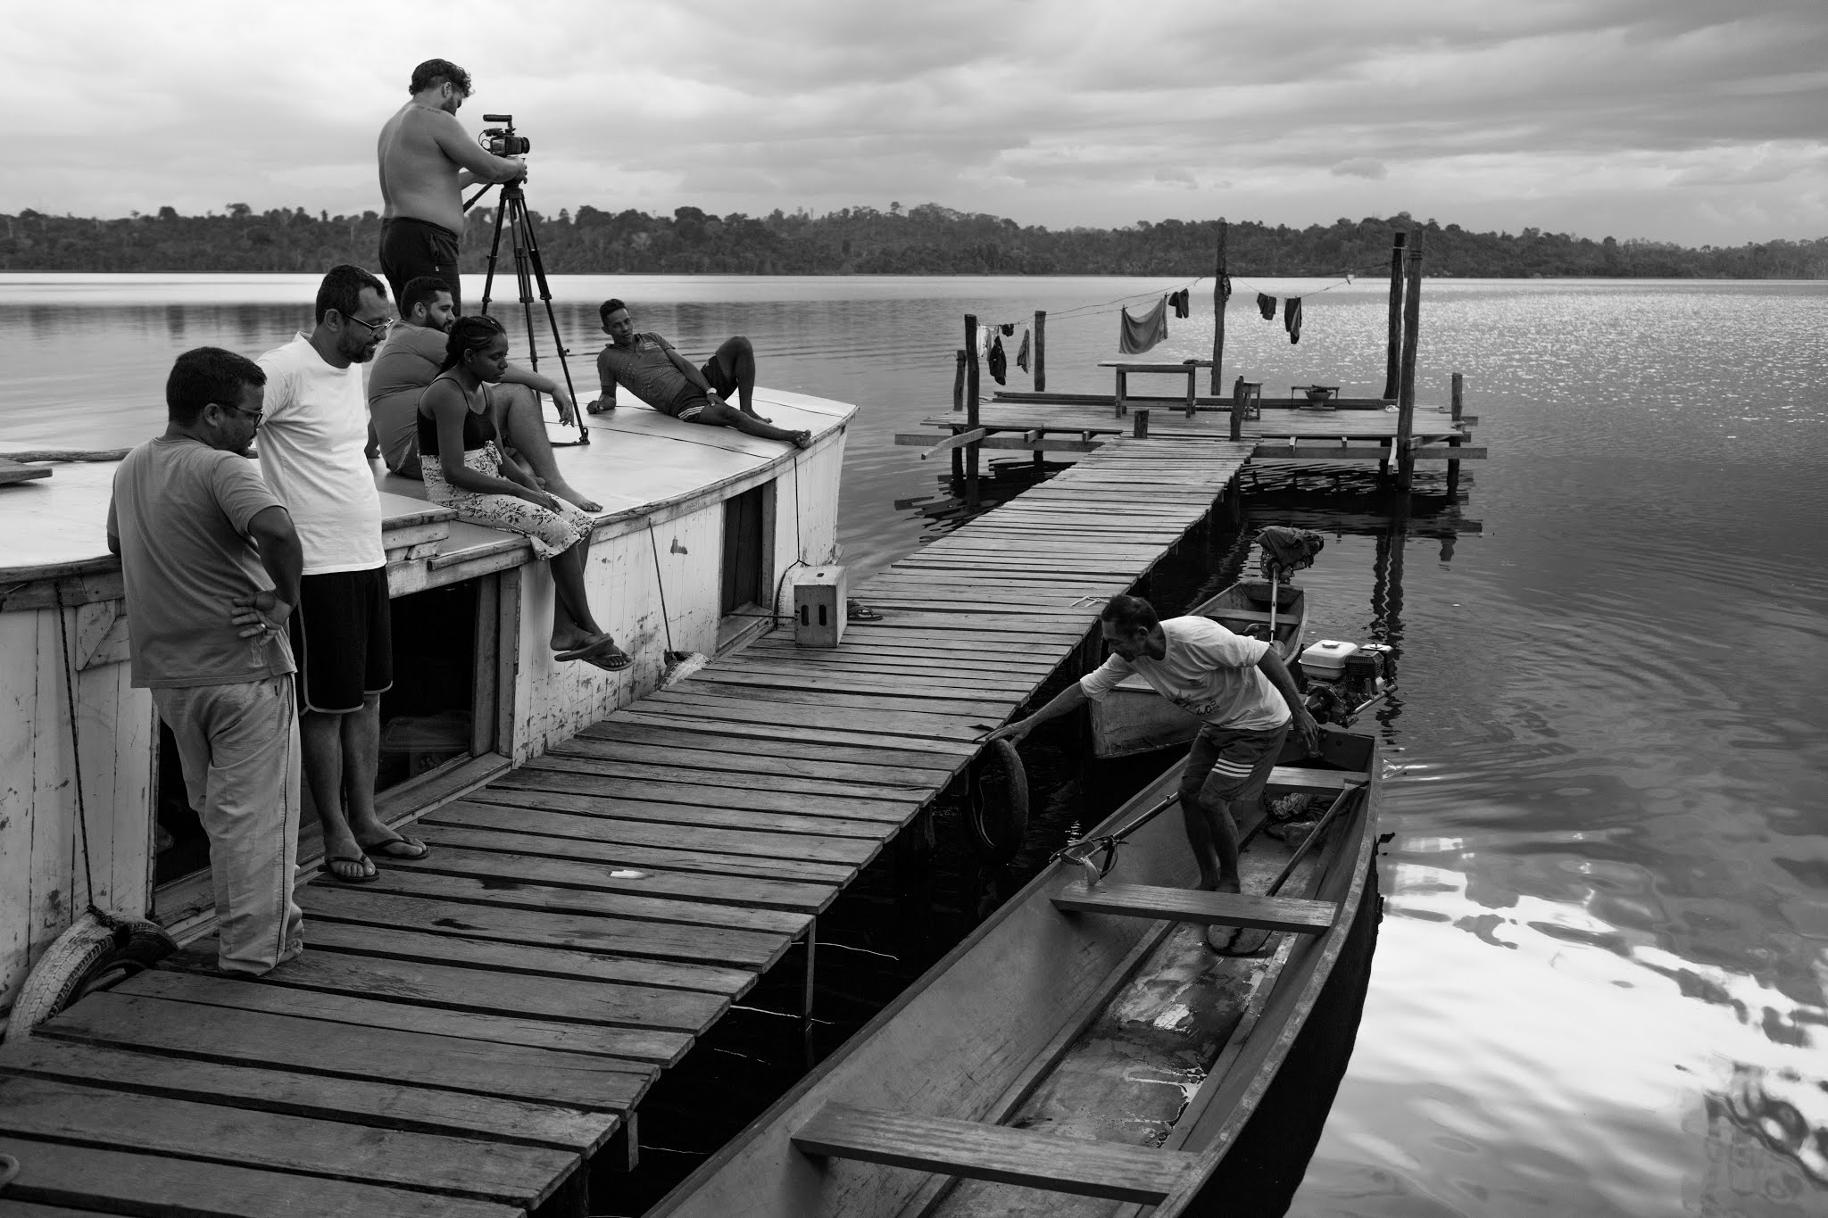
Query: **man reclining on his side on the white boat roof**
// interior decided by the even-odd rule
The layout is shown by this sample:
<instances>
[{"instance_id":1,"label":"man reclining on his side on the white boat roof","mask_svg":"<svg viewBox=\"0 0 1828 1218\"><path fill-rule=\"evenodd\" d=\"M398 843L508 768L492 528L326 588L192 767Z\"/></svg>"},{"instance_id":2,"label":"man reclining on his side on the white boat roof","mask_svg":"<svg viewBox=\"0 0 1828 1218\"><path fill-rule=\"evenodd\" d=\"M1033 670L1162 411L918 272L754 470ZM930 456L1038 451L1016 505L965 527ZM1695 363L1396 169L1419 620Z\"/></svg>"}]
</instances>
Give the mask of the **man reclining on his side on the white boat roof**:
<instances>
[{"instance_id":1,"label":"man reclining on his side on the white boat roof","mask_svg":"<svg viewBox=\"0 0 1828 1218\"><path fill-rule=\"evenodd\" d=\"M755 347L748 338L731 338L704 367L693 367L667 340L638 334L629 307L620 299L605 299L600 312L611 343L596 358L603 396L590 402L592 415L616 409L616 385L622 383L647 405L680 422L735 427L799 447L812 444L810 431L773 427L755 413ZM731 393L740 405L726 402Z\"/></svg>"}]
</instances>

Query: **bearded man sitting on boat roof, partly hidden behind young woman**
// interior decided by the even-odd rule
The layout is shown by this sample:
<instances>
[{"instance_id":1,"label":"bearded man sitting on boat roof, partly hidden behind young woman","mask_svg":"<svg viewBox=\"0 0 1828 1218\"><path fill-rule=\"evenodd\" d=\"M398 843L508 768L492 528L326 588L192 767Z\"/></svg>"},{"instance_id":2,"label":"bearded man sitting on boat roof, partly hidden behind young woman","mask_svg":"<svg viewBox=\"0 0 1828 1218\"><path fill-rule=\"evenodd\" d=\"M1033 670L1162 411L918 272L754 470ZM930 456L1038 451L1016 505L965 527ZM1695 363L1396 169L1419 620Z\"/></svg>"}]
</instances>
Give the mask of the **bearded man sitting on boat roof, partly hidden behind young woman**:
<instances>
[{"instance_id":1,"label":"bearded man sitting on boat roof, partly hidden behind young woman","mask_svg":"<svg viewBox=\"0 0 1828 1218\"><path fill-rule=\"evenodd\" d=\"M419 394L439 374L444 363L444 345L457 320L450 287L435 276L408 279L400 290L400 320L388 331L388 341L375 356L375 373L367 382L367 415L380 442L380 457L388 469L408 478L419 477ZM601 506L579 495L565 480L552 458L552 438L539 409L541 393L552 394L559 422L574 418L570 394L561 382L510 363L495 385L495 420L508 447L523 458L534 477L559 499L601 511Z\"/></svg>"}]
</instances>

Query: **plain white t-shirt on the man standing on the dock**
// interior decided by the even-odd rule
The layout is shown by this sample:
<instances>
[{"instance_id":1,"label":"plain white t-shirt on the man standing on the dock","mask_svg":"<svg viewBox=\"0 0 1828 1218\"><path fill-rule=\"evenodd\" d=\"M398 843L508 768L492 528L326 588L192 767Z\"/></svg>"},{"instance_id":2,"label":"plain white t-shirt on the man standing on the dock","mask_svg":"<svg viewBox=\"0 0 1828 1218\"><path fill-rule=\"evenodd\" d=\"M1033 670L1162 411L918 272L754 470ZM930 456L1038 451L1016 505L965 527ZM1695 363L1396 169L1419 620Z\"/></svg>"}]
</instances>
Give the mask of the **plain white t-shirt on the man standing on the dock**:
<instances>
[{"instance_id":1,"label":"plain white t-shirt on the man standing on the dock","mask_svg":"<svg viewBox=\"0 0 1828 1218\"><path fill-rule=\"evenodd\" d=\"M267 418L254 440L267 486L292 515L305 575L386 566L367 464L362 367L331 367L305 334L260 358Z\"/></svg>"}]
</instances>

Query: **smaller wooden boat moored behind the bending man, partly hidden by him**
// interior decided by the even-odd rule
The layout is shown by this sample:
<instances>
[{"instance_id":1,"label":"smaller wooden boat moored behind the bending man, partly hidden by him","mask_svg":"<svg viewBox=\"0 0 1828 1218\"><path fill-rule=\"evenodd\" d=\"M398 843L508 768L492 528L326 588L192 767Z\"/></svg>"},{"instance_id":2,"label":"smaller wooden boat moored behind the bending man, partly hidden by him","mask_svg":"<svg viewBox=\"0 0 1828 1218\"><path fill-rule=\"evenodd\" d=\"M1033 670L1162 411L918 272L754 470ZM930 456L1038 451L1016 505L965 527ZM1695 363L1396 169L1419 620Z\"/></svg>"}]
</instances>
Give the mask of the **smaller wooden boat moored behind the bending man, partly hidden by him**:
<instances>
[{"instance_id":1,"label":"smaller wooden boat moored behind the bending man, partly hidden by him","mask_svg":"<svg viewBox=\"0 0 1828 1218\"><path fill-rule=\"evenodd\" d=\"M1267 579L1247 579L1232 584L1210 601L1186 612L1188 617L1210 617L1234 634L1263 637L1269 630ZM1302 632L1307 628L1307 593L1294 584L1276 588L1276 656L1292 665L1302 652ZM1099 760L1150 752L1170 745L1185 745L1199 730L1199 719L1150 688L1142 677L1126 677L1091 703L1091 756Z\"/></svg>"}]
</instances>

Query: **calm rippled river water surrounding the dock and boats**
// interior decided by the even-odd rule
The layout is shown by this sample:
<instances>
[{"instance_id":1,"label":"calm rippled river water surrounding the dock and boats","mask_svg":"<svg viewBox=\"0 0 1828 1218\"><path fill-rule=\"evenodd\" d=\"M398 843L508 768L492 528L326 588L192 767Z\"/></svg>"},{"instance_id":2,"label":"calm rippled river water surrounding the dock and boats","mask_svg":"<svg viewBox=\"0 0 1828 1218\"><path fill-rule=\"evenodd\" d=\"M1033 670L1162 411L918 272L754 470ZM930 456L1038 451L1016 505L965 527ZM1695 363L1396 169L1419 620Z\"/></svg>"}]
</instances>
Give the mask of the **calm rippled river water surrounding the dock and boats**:
<instances>
[{"instance_id":1,"label":"calm rippled river water surrounding the dock and boats","mask_svg":"<svg viewBox=\"0 0 1828 1218\"><path fill-rule=\"evenodd\" d=\"M616 294L682 349L744 332L764 383L859 402L861 568L918 544L892 504L930 495L936 462L892 436L951 404L960 314L1049 310L1049 387L1108 391L1115 316L1068 310L1172 287L554 279L581 352ZM177 351L258 354L309 323L311 290L0 276L0 451L152 435ZM1309 294L1294 347L1254 290L1227 378L1382 387L1380 283ZM1194 305L1166 358L1210 349ZM1387 909L1292 1213L1828 1213L1828 285L1429 281L1424 400L1453 371L1492 447L1459 509L1483 531L1395 542ZM1252 497L1250 526L1280 502ZM1382 526L1302 522L1329 530L1302 577L1316 634L1367 637Z\"/></svg>"}]
</instances>

